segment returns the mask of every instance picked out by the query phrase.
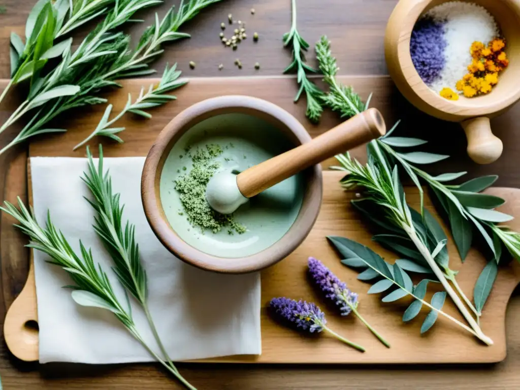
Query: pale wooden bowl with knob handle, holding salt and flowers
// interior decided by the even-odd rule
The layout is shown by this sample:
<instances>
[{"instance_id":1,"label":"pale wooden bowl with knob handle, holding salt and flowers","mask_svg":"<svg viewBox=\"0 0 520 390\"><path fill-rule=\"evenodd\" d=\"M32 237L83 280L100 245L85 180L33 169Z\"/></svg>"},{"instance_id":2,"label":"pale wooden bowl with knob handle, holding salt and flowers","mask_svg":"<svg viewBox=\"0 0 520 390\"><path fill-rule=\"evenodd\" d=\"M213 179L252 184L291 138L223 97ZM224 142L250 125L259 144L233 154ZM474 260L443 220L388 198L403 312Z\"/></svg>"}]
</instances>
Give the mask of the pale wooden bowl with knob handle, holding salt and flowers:
<instances>
[{"instance_id":1,"label":"pale wooden bowl with knob handle, holding salt and flowers","mask_svg":"<svg viewBox=\"0 0 520 390\"><path fill-rule=\"evenodd\" d=\"M425 11L446 1L399 1L388 20L385 33L388 72L400 92L415 107L439 119L460 122L467 137L467 154L479 164L488 164L497 160L502 153L502 141L491 132L489 119L502 113L520 98L520 2L467 1L483 6L495 17L506 40L510 63L500 73L500 81L491 93L453 101L428 88L415 70L410 55L410 36L415 22Z\"/></svg>"}]
</instances>

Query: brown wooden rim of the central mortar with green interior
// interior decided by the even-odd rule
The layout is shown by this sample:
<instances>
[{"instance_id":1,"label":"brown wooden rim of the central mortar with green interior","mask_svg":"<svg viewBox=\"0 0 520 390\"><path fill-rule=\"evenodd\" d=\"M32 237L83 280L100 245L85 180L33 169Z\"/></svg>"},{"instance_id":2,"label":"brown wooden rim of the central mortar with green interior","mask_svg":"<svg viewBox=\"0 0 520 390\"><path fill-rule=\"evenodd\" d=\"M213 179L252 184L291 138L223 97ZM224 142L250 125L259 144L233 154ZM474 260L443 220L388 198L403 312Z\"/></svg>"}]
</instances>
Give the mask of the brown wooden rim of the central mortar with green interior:
<instances>
[{"instance_id":1,"label":"brown wooden rim of the central mortar with green interior","mask_svg":"<svg viewBox=\"0 0 520 390\"><path fill-rule=\"evenodd\" d=\"M294 251L313 227L321 205L321 167L302 172L304 194L295 222L277 242L256 254L226 258L201 252L183 241L168 223L160 198L160 178L165 160L175 142L197 123L216 115L243 113L265 120L283 132L294 146L311 140L291 114L280 107L248 96L221 96L197 103L178 114L159 134L145 161L141 178L142 204L148 222L162 244L175 256L196 267L229 274L242 274L269 267Z\"/></svg>"}]
</instances>

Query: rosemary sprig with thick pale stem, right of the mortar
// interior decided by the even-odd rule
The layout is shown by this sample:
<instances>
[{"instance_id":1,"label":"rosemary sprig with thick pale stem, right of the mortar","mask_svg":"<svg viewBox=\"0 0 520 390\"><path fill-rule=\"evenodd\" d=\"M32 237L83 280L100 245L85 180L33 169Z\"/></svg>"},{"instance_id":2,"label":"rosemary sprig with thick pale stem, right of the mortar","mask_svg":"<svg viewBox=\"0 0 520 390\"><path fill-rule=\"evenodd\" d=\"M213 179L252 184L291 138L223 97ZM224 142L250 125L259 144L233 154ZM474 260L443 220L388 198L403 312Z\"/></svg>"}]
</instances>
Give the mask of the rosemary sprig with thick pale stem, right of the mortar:
<instances>
[{"instance_id":1,"label":"rosemary sprig with thick pale stem, right of the mortar","mask_svg":"<svg viewBox=\"0 0 520 390\"><path fill-rule=\"evenodd\" d=\"M493 342L486 336L471 313L467 310L459 295L449 284L444 272L436 262L436 256L445 248L446 241L438 241L435 248L430 249L427 232L418 230L412 213L406 202L406 196L400 184L397 166L391 168L377 143L370 144L373 152L370 153L369 163L361 165L357 160L350 158L349 154L338 155L337 159L342 164L342 170L348 174L342 180L345 186L360 186L365 188L366 196L381 208L386 220L391 225L402 229L411 240L415 248L425 259L428 267L433 271L444 289L451 297L454 304L460 310L466 321L484 343L491 345ZM446 270L445 270L446 271Z\"/></svg>"}]
</instances>

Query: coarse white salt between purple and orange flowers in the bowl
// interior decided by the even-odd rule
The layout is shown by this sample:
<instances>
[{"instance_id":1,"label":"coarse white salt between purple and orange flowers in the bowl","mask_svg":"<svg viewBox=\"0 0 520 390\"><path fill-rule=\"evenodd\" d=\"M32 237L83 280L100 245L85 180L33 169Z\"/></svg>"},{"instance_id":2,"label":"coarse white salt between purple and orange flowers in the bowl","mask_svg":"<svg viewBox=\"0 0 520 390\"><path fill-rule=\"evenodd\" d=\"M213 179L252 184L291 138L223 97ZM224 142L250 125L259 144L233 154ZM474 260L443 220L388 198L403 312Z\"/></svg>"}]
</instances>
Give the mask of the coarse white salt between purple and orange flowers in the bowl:
<instances>
[{"instance_id":1,"label":"coarse white salt between purple and orange flowers in the bowl","mask_svg":"<svg viewBox=\"0 0 520 390\"><path fill-rule=\"evenodd\" d=\"M459 1L440 4L424 16L443 23L447 43L444 50L445 66L430 88L437 93L444 87L454 89L471 64L471 44L479 41L487 45L499 36L498 25L484 7Z\"/></svg>"}]
</instances>

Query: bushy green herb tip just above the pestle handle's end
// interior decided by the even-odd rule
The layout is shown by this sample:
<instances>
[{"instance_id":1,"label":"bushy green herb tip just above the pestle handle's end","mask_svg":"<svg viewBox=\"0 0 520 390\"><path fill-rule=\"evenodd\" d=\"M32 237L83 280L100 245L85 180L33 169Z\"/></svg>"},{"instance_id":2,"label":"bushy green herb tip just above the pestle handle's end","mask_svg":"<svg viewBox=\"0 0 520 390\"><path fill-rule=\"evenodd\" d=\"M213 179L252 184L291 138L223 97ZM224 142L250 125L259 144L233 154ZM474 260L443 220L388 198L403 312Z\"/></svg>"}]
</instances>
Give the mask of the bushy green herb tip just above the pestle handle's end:
<instances>
[{"instance_id":1,"label":"bushy green herb tip just above the pestle handle's end","mask_svg":"<svg viewBox=\"0 0 520 390\"><path fill-rule=\"evenodd\" d=\"M365 111L368 108L371 96L369 96L365 105L359 95L354 92L352 86L344 86L336 80L339 68L336 65L336 59L332 56L330 41L326 35L323 35L316 43L316 58L323 73L323 81L330 88L329 92L322 96L324 105L333 111L339 111L341 118L345 119Z\"/></svg>"}]
</instances>

